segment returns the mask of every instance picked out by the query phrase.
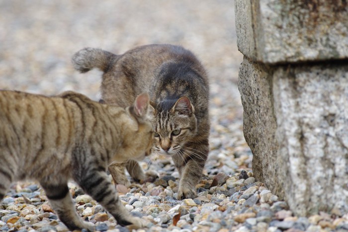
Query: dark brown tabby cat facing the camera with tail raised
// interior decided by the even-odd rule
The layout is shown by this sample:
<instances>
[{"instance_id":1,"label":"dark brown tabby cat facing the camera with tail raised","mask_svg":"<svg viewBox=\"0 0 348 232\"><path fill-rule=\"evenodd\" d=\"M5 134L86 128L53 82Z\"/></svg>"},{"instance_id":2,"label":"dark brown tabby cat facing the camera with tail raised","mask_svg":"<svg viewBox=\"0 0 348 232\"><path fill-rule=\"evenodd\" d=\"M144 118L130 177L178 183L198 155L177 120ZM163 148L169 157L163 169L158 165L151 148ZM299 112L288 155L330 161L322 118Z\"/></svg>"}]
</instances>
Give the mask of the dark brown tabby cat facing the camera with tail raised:
<instances>
[{"instance_id":1,"label":"dark brown tabby cat facing the camera with tail raised","mask_svg":"<svg viewBox=\"0 0 348 232\"><path fill-rule=\"evenodd\" d=\"M140 46L122 55L85 48L72 61L82 73L93 68L104 72L101 94L107 104L124 107L139 93L149 93L153 153L173 158L180 174L178 198L195 198L209 152L210 121L207 74L192 52L169 44ZM109 166L115 183L130 184L125 168L135 180L146 178L138 162L130 159Z\"/></svg>"}]
</instances>

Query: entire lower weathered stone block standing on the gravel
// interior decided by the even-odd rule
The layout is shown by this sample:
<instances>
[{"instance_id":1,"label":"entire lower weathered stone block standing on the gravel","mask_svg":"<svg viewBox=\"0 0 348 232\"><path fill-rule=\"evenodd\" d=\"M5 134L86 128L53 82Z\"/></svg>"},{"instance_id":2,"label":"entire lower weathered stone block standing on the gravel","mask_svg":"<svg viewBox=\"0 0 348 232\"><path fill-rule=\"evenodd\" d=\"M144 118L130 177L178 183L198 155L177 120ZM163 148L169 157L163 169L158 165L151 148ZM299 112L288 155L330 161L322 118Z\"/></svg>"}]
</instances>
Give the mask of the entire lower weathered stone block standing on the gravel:
<instances>
[{"instance_id":1,"label":"entire lower weathered stone block standing on the gravel","mask_svg":"<svg viewBox=\"0 0 348 232\"><path fill-rule=\"evenodd\" d=\"M256 178L297 215L348 212L348 65L265 66L239 74Z\"/></svg>"}]
</instances>

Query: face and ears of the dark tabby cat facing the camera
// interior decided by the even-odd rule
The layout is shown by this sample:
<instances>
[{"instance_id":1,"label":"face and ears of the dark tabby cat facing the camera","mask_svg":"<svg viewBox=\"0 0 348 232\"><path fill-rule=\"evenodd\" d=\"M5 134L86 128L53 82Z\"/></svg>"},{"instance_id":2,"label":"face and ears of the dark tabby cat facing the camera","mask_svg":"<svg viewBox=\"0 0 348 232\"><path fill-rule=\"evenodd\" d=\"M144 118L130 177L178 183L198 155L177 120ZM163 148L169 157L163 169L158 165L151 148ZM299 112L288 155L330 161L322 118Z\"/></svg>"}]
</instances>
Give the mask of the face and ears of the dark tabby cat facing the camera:
<instances>
[{"instance_id":1,"label":"face and ears of the dark tabby cat facing the camera","mask_svg":"<svg viewBox=\"0 0 348 232\"><path fill-rule=\"evenodd\" d=\"M194 107L188 97L165 100L150 107L153 114L155 143L153 151L166 155L180 153L197 133Z\"/></svg>"}]
</instances>

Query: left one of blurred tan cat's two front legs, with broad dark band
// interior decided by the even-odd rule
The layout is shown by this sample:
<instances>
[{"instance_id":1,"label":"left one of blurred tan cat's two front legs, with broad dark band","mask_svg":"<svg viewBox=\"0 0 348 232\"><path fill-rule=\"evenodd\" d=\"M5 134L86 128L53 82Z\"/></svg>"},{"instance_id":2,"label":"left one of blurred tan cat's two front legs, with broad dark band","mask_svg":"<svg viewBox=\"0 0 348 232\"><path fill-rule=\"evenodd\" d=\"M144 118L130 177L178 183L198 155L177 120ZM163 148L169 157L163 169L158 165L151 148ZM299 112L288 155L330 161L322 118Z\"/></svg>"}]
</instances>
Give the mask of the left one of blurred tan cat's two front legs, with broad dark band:
<instances>
[{"instance_id":1,"label":"left one of blurred tan cat's two front legs, with broad dark band","mask_svg":"<svg viewBox=\"0 0 348 232\"><path fill-rule=\"evenodd\" d=\"M84 222L77 214L67 183L57 185L41 183L41 186L45 190L53 210L69 230L87 229L94 231L93 224Z\"/></svg>"}]
</instances>

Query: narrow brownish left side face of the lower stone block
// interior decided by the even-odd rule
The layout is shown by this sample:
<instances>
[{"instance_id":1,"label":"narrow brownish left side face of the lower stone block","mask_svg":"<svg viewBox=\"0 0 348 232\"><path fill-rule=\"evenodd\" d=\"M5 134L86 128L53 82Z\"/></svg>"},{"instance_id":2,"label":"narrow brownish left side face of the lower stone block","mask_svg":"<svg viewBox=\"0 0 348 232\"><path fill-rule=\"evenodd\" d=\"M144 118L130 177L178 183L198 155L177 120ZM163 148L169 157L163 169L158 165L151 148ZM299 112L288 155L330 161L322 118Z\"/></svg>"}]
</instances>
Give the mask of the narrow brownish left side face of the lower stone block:
<instances>
[{"instance_id":1,"label":"narrow brownish left side face of the lower stone block","mask_svg":"<svg viewBox=\"0 0 348 232\"><path fill-rule=\"evenodd\" d=\"M245 58L239 70L238 87L241 93L244 137L253 157L253 172L258 181L270 190L283 195L278 183L275 139L276 119L273 114L270 68Z\"/></svg>"}]
</instances>

